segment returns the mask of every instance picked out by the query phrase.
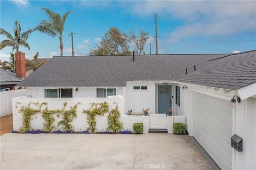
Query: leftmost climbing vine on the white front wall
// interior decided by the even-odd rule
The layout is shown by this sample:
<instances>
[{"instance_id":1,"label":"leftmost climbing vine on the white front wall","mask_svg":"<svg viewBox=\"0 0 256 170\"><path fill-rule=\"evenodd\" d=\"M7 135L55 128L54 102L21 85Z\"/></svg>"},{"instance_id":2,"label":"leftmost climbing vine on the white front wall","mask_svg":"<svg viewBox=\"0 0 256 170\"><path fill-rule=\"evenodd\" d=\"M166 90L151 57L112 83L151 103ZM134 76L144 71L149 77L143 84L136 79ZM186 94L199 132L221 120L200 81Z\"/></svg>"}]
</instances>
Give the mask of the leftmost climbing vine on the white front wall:
<instances>
[{"instance_id":1,"label":"leftmost climbing vine on the white front wall","mask_svg":"<svg viewBox=\"0 0 256 170\"><path fill-rule=\"evenodd\" d=\"M18 104L20 103L16 103L16 106L15 106L16 108ZM31 128L31 125L30 125L31 117L36 115L36 113L41 113L41 107L43 105L47 105L47 103L39 104L37 102L33 104L38 108L32 108L30 106L31 104L32 103L30 102L27 106L21 106L21 108L18 110L18 113L22 114L22 126L18 130L19 133L25 133L29 131Z\"/></svg>"}]
</instances>

